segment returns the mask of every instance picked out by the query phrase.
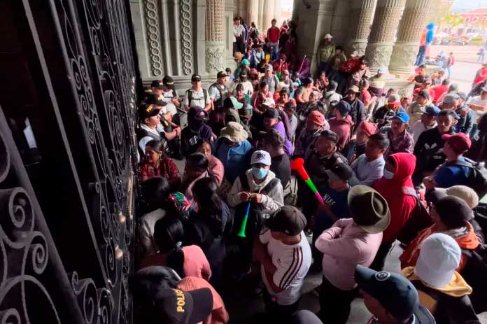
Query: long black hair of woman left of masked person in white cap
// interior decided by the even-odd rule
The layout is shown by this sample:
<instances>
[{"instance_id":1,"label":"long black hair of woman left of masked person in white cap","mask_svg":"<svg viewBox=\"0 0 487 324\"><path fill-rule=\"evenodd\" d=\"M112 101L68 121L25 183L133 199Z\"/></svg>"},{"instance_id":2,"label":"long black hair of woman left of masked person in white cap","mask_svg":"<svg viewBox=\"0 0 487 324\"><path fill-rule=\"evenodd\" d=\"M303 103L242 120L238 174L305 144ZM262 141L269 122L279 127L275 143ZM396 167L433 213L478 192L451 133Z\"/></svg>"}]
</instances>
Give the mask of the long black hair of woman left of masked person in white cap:
<instances>
[{"instance_id":1,"label":"long black hair of woman left of masked person in white cap","mask_svg":"<svg viewBox=\"0 0 487 324\"><path fill-rule=\"evenodd\" d=\"M192 194L198 202L198 213L204 223L210 227L214 237L219 237L223 233L223 202L216 193L217 190L218 185L214 178L201 178L192 187Z\"/></svg>"}]
</instances>

